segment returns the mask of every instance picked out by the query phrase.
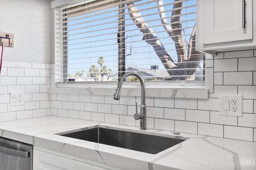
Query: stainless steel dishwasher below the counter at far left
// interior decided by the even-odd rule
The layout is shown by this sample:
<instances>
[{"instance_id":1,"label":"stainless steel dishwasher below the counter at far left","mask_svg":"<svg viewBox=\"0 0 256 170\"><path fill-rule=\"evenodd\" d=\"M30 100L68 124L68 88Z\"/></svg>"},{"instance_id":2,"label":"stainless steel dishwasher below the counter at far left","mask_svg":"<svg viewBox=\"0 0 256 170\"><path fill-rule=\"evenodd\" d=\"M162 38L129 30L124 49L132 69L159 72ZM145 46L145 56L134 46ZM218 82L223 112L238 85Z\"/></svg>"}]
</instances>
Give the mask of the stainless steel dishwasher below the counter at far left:
<instances>
[{"instance_id":1,"label":"stainless steel dishwasher below the counter at far left","mask_svg":"<svg viewBox=\"0 0 256 170\"><path fill-rule=\"evenodd\" d=\"M32 170L33 145L0 137L0 170Z\"/></svg>"}]
</instances>

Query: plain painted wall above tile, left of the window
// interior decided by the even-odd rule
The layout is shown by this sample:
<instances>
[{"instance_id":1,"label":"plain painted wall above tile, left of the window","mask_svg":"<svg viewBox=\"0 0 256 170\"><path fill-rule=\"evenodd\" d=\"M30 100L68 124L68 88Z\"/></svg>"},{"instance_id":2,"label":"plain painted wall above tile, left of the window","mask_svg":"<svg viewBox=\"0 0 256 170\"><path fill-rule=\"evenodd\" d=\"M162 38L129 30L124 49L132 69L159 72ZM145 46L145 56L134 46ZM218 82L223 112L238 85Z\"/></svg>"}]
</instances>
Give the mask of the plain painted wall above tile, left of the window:
<instances>
[{"instance_id":1,"label":"plain painted wall above tile, left of the window","mask_svg":"<svg viewBox=\"0 0 256 170\"><path fill-rule=\"evenodd\" d=\"M0 31L14 33L3 61L50 64L49 0L0 0Z\"/></svg>"}]
</instances>

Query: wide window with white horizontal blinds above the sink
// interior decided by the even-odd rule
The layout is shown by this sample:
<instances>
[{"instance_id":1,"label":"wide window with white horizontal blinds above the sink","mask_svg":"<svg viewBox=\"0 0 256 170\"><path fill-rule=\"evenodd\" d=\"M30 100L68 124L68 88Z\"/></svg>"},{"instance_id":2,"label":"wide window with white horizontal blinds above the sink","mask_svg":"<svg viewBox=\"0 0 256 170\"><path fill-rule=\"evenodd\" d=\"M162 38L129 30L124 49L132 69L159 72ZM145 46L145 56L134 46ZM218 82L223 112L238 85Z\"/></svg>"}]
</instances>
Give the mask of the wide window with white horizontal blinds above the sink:
<instances>
[{"instance_id":1,"label":"wide window with white horizontal blinds above the sink","mask_svg":"<svg viewBox=\"0 0 256 170\"><path fill-rule=\"evenodd\" d=\"M90 0L55 8L57 82L204 81L196 0ZM135 81L129 77L126 81Z\"/></svg>"}]
</instances>

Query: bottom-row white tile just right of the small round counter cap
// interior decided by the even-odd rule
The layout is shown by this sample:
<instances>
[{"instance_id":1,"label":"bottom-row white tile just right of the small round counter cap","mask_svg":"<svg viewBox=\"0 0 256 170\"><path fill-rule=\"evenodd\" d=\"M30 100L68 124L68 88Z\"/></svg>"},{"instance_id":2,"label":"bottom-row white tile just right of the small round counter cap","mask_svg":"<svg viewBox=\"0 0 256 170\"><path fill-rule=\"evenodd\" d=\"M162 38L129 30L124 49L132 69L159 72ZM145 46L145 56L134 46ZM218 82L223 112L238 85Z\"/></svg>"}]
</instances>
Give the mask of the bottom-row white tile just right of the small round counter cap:
<instances>
[{"instance_id":1,"label":"bottom-row white tile just right of the small round counter cap","mask_svg":"<svg viewBox=\"0 0 256 170\"><path fill-rule=\"evenodd\" d=\"M190 121L175 121L175 131L197 134L197 123Z\"/></svg>"}]
</instances>

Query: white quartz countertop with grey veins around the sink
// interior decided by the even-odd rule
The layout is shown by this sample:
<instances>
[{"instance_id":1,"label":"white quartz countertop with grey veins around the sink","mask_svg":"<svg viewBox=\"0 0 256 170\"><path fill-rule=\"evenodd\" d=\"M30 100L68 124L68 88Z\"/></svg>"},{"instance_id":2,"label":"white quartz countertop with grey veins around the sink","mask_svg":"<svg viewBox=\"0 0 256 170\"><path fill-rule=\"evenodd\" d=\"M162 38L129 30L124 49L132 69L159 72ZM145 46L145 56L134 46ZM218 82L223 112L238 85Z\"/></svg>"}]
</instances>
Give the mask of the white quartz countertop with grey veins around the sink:
<instances>
[{"instance_id":1,"label":"white quartz countertop with grey veins around the sink","mask_svg":"<svg viewBox=\"0 0 256 170\"><path fill-rule=\"evenodd\" d=\"M158 154L148 154L56 135L92 126L187 140ZM256 143L253 142L187 133L173 135L170 131L140 130L139 127L64 117L46 116L1 122L0 136L124 169L256 169L253 164ZM243 164L241 159L250 160L252 164Z\"/></svg>"}]
</instances>

